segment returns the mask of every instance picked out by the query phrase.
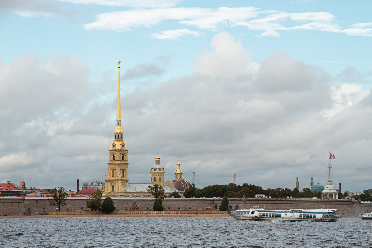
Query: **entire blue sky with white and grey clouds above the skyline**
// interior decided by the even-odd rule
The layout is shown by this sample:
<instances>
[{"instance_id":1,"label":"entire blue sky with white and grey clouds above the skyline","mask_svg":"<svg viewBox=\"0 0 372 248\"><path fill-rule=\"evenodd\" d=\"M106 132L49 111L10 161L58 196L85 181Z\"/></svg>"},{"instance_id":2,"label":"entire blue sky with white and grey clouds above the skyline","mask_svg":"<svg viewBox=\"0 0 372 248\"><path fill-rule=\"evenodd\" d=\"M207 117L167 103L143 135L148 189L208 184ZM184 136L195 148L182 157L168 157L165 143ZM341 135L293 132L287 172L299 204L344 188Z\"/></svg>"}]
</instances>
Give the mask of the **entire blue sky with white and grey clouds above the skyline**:
<instances>
[{"instance_id":1,"label":"entire blue sky with white and grey clouds above the skyline","mask_svg":"<svg viewBox=\"0 0 372 248\"><path fill-rule=\"evenodd\" d=\"M0 1L0 183L372 188L371 1ZM81 184L80 183L80 184Z\"/></svg>"}]
</instances>

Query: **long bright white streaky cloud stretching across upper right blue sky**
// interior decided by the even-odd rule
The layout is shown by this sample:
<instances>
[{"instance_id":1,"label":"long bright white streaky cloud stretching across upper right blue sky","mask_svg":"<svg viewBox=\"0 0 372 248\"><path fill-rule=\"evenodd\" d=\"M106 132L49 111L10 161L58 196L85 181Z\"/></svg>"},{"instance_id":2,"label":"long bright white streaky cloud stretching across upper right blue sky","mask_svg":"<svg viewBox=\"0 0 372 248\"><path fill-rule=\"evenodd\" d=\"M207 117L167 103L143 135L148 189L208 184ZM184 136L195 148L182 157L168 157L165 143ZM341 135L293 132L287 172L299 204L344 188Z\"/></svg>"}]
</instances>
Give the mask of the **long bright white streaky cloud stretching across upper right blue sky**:
<instances>
[{"instance_id":1,"label":"long bright white streaky cloud stretching across upper right blue sky","mask_svg":"<svg viewBox=\"0 0 372 248\"><path fill-rule=\"evenodd\" d=\"M277 10L262 10L255 7L219 7L217 9L198 7L173 7L157 9L131 9L120 12L106 12L95 16L95 21L84 24L86 30L107 30L125 32L133 28L153 28L165 21L176 21L179 26L192 26L200 30L217 32L225 27L244 26L250 30L262 31L261 37L279 37L281 30L319 30L345 33L354 36L371 36L371 23L355 23L344 29L337 24L336 16L328 12L287 13ZM158 39L177 39L185 28L164 30L161 34L151 33ZM188 31L186 31L188 30Z\"/></svg>"}]
</instances>

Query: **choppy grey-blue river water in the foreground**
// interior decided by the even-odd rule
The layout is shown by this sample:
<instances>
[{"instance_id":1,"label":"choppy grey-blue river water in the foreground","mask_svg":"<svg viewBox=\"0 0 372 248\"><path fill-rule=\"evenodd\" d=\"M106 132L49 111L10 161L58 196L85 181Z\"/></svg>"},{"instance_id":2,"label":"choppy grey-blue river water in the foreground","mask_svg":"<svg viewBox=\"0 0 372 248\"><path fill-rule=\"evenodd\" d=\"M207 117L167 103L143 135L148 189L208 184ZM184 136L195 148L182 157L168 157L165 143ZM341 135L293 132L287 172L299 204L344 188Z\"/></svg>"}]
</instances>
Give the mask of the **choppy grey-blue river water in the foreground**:
<instances>
[{"instance_id":1,"label":"choppy grey-blue river water in the foreground","mask_svg":"<svg viewBox=\"0 0 372 248\"><path fill-rule=\"evenodd\" d=\"M372 221L253 222L228 217L0 219L0 247L372 248Z\"/></svg>"}]
</instances>

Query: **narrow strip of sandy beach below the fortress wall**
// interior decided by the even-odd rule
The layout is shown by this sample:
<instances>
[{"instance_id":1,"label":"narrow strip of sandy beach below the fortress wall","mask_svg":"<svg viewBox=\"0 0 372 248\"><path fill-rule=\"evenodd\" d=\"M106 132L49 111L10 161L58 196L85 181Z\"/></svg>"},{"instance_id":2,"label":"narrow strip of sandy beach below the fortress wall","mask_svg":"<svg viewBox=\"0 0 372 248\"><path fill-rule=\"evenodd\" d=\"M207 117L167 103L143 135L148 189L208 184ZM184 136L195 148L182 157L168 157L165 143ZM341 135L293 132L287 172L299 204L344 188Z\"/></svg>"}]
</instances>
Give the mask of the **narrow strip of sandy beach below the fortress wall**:
<instances>
[{"instance_id":1,"label":"narrow strip of sandy beach below the fortress wall","mask_svg":"<svg viewBox=\"0 0 372 248\"><path fill-rule=\"evenodd\" d=\"M230 215L216 215L216 214L131 214L131 215L8 215L0 216L0 219L12 218L100 218L100 217L230 217Z\"/></svg>"}]
</instances>

